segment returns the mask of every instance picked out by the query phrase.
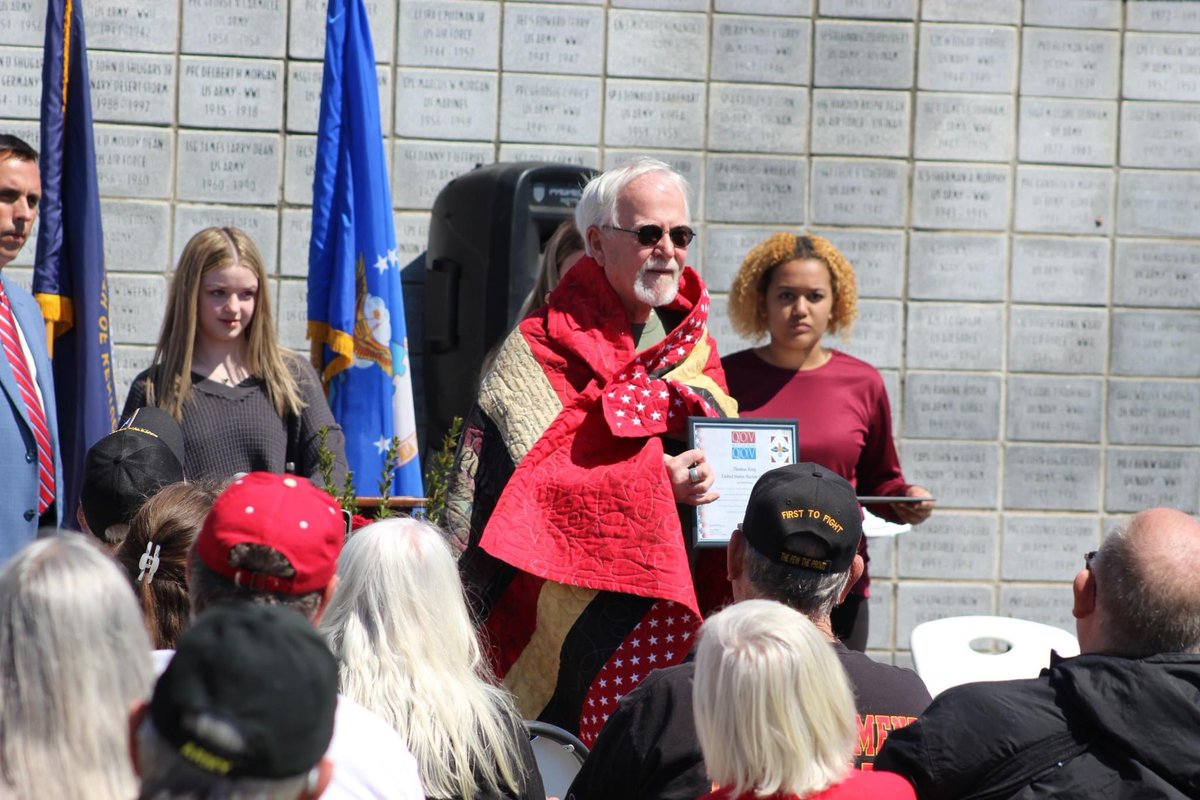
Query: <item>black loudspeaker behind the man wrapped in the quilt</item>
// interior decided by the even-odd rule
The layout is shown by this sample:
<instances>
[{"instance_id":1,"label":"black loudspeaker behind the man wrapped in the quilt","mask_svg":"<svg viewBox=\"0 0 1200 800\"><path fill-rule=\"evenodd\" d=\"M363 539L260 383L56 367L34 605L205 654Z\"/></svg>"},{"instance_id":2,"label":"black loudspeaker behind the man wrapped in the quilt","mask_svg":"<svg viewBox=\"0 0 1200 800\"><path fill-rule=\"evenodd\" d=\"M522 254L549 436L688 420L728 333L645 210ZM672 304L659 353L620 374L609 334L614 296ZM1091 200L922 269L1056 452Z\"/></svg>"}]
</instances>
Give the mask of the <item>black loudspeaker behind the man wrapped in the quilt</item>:
<instances>
[{"instance_id":1,"label":"black loudspeaker behind the man wrapped in the quilt","mask_svg":"<svg viewBox=\"0 0 1200 800\"><path fill-rule=\"evenodd\" d=\"M487 353L520 321L546 240L575 213L587 167L522 162L461 175L438 194L425 275L426 441L466 417Z\"/></svg>"}]
</instances>

